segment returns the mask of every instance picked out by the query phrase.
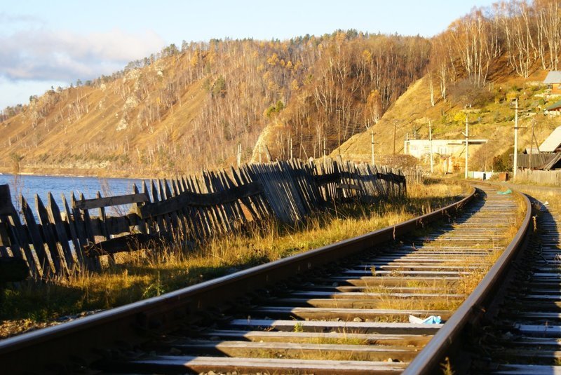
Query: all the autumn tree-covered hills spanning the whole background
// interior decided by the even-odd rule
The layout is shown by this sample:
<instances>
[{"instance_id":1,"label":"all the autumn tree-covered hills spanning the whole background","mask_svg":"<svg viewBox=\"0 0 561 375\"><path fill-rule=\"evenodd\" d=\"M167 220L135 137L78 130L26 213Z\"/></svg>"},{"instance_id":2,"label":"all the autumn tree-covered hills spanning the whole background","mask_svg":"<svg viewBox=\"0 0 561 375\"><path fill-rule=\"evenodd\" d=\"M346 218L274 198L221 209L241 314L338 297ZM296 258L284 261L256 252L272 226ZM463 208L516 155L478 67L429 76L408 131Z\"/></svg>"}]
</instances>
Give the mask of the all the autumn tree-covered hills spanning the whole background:
<instances>
[{"instance_id":1,"label":"all the autumn tree-covered hills spanning the whole background","mask_svg":"<svg viewBox=\"0 0 561 375\"><path fill-rule=\"evenodd\" d=\"M454 136L466 111L481 113L473 122L485 135L510 126L511 112L499 107L513 97L541 111L547 99L527 82L561 69L560 54L559 0L474 9L431 39L351 30L171 45L111 76L4 109L0 169L170 175L235 164L239 145L242 162L255 160L259 144L273 158L318 157L324 142L330 153L367 129L380 145L396 129L401 143L412 123L429 119L437 135ZM423 89L402 100L407 110L384 116L409 87ZM361 149L349 155L370 153L370 144L355 144Z\"/></svg>"}]
</instances>

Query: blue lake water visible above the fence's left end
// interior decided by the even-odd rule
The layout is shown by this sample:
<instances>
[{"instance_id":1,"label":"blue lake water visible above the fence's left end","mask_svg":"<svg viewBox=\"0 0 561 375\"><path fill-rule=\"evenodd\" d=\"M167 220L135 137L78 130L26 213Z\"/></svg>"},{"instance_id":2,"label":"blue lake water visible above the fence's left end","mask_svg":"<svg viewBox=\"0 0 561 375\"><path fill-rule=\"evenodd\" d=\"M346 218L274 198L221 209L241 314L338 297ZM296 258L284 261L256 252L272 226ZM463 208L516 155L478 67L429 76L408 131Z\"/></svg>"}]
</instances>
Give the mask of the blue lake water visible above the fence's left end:
<instances>
[{"instance_id":1,"label":"blue lake water visible above the fence's left end","mask_svg":"<svg viewBox=\"0 0 561 375\"><path fill-rule=\"evenodd\" d=\"M61 194L64 193L70 203L72 192L79 198L83 193L84 198L95 198L97 191L102 196L119 196L133 193L133 184L137 184L142 189L141 179L121 179L121 178L97 178L97 177L61 177L61 176L28 176L20 175L18 183L18 193L21 193L31 207L35 207L35 194L38 194L47 205L47 194L53 193L53 197L62 208ZM0 175L0 185L8 184L15 207L19 207L15 200L18 198L15 189L13 175ZM35 211L35 210L33 210Z\"/></svg>"}]
</instances>

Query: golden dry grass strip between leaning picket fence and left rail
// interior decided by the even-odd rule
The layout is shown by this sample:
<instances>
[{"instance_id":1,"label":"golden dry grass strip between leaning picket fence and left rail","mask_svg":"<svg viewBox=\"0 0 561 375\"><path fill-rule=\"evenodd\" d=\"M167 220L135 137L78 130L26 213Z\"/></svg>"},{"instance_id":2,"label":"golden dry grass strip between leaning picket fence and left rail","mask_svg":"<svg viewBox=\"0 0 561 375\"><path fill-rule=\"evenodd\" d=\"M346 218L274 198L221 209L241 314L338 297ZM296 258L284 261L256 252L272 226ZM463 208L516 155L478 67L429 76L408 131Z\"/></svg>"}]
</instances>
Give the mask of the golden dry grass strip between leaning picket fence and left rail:
<instances>
[{"instance_id":1,"label":"golden dry grass strip between leaning picket fence and left rail","mask_svg":"<svg viewBox=\"0 0 561 375\"><path fill-rule=\"evenodd\" d=\"M447 205L465 192L459 185L414 186L408 198L339 205L337 214L332 207L295 227L271 221L194 250L165 245L158 252L135 252L99 274L81 271L42 285L24 282L1 292L0 319L53 322L121 306L396 224ZM7 334L11 332L0 328L0 336Z\"/></svg>"}]
</instances>

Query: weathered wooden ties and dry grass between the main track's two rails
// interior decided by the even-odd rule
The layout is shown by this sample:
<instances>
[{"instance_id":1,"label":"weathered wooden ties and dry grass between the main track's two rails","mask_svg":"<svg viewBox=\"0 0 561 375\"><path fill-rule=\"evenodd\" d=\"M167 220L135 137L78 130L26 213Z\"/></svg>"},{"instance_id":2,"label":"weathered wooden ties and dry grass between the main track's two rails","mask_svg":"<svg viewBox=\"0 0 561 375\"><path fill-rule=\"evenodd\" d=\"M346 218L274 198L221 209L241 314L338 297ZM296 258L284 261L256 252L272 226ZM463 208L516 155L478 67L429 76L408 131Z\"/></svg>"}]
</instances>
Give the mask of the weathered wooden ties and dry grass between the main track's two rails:
<instances>
[{"instance_id":1,"label":"weathered wooden ties and dry grass between the main track's two rails","mask_svg":"<svg viewBox=\"0 0 561 375\"><path fill-rule=\"evenodd\" d=\"M171 332L95 367L139 374L400 373L511 240L505 229L514 221L515 198L482 189L450 224L288 280L226 311L229 318ZM412 323L410 315L442 322Z\"/></svg>"}]
</instances>

